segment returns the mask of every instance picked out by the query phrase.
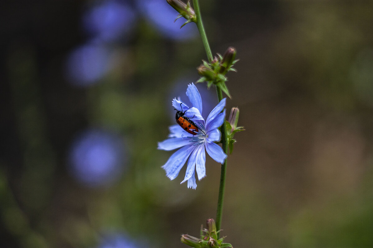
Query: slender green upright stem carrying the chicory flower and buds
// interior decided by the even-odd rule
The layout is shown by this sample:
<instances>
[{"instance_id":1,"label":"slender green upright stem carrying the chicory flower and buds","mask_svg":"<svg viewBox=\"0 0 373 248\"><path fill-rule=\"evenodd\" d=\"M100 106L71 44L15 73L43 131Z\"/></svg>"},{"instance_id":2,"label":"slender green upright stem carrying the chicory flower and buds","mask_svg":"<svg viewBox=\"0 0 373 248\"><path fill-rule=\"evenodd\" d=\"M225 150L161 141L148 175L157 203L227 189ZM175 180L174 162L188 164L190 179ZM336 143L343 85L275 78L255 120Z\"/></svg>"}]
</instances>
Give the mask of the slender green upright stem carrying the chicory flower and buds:
<instances>
[{"instance_id":1,"label":"slender green upright stem carrying the chicory flower and buds","mask_svg":"<svg viewBox=\"0 0 373 248\"><path fill-rule=\"evenodd\" d=\"M211 48L209 45L209 41L207 40L206 32L203 27L203 22L201 18L201 12L200 12L200 6L198 4L198 0L193 0L193 7L195 11L195 15L197 17L197 27L198 31L200 32L203 45L206 50L207 58L209 59L209 62L213 60L213 56L211 53ZM219 87L216 87L216 94L219 102L223 99L223 93L222 90ZM225 117L223 125L220 127L220 132L222 133L222 146L223 151L225 154L228 154L228 142L227 142L227 132L226 132L226 126L225 126ZM227 159L225 159L224 163L222 164L221 171L220 171L220 185L219 185L219 196L217 199L217 210L216 210L216 230L220 230L220 226L222 223L222 214L223 214L223 201L224 201L224 190L225 190L225 174L226 174L226 167L227 167ZM219 232L217 233L217 236L219 238Z\"/></svg>"}]
</instances>

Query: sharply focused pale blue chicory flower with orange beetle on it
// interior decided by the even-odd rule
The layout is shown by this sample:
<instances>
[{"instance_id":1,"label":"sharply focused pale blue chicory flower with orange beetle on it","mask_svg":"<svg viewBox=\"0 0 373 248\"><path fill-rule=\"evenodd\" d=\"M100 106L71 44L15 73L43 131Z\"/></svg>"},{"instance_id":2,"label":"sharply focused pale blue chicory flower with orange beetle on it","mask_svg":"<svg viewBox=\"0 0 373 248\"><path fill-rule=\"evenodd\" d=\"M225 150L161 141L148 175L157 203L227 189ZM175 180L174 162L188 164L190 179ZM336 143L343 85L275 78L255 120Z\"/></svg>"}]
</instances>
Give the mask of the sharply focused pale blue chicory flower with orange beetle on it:
<instances>
[{"instance_id":1,"label":"sharply focused pale blue chicory flower with orange beetle on it","mask_svg":"<svg viewBox=\"0 0 373 248\"><path fill-rule=\"evenodd\" d=\"M169 139L159 142L158 149L171 151L180 148L171 155L162 168L166 171L167 177L173 180L178 176L181 168L189 158L185 177L181 183L188 181L188 188L195 189L197 187L194 175L195 171L197 171L198 180L206 176L205 149L210 157L220 164L227 157L223 149L214 143L220 141L221 133L218 128L224 121L225 109L223 112L222 110L225 107L226 98L216 105L205 122L202 117L202 99L197 87L193 83L188 85L186 96L188 96L192 107L189 108L184 102L176 98L172 100L172 106L177 111L184 112L186 110L184 116L191 118L197 125L197 134L192 135L181 128L181 126L172 125L169 127L171 132Z\"/></svg>"}]
</instances>

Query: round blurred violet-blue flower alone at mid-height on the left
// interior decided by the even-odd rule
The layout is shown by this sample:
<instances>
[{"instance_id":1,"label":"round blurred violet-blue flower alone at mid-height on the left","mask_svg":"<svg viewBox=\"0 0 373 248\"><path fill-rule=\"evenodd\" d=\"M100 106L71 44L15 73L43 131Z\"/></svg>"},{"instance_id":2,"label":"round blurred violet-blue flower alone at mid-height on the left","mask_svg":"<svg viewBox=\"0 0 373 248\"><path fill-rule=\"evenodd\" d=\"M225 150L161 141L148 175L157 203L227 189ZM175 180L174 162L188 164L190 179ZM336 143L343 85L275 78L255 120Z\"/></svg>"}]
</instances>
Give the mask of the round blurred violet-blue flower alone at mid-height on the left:
<instances>
[{"instance_id":1,"label":"round blurred violet-blue flower alone at mid-height on the left","mask_svg":"<svg viewBox=\"0 0 373 248\"><path fill-rule=\"evenodd\" d=\"M124 152L125 146L119 137L101 130L87 130L72 142L71 172L87 186L110 185L124 170Z\"/></svg>"}]
</instances>

